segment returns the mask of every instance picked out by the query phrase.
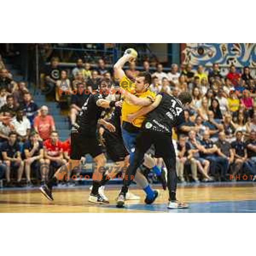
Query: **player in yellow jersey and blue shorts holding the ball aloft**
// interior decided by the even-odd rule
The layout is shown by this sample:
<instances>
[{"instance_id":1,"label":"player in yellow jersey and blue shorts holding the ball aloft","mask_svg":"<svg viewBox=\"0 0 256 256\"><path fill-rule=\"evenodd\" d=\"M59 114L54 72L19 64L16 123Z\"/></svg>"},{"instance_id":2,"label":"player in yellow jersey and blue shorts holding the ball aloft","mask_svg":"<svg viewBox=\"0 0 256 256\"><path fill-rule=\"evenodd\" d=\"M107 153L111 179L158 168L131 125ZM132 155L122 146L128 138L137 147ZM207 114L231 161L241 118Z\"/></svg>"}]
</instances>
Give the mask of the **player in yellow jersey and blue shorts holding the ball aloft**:
<instances>
[{"instance_id":1,"label":"player in yellow jersey and blue shorts holding the ball aloft","mask_svg":"<svg viewBox=\"0 0 256 256\"><path fill-rule=\"evenodd\" d=\"M141 72L136 77L135 82L125 76L123 71L123 66L128 61L135 61L137 57L137 52L134 49L128 49L125 51L125 54L116 62L114 65L114 76L116 81L119 81L119 85L122 90L124 90L123 97L124 102L122 104L122 137L125 143L126 148L130 153L130 164L134 161L135 153L135 142L137 135L139 134L140 128L145 116L139 116L134 119L132 122L128 120L128 115L134 112L139 111L144 106L152 104L154 102L156 95L148 90L148 87L151 84L151 75L148 72ZM135 97L131 97L134 95ZM145 157L144 165L153 171L161 178L162 184L166 184L165 175L161 173L160 169L155 164L154 160L151 157ZM158 192L152 190L146 178L137 172L137 180L143 184L143 190L146 193L145 203L151 204L158 196ZM136 181L137 181L136 180ZM166 185L163 184L163 187Z\"/></svg>"}]
</instances>

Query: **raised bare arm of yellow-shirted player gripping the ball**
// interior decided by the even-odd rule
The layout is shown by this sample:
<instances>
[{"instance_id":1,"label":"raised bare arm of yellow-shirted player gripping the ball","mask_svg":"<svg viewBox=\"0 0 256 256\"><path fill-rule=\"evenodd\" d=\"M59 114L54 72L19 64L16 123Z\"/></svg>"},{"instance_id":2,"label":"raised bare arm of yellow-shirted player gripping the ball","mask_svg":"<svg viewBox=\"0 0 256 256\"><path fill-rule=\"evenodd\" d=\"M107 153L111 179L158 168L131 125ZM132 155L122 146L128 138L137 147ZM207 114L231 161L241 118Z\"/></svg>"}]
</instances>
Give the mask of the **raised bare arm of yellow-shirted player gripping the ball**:
<instances>
[{"instance_id":1,"label":"raised bare arm of yellow-shirted player gripping the ball","mask_svg":"<svg viewBox=\"0 0 256 256\"><path fill-rule=\"evenodd\" d=\"M114 77L116 81L121 81L123 77L125 76L125 72L123 70L123 67L126 62L133 61L137 57L137 52L134 49L127 49L124 53L124 55L119 58L119 60L114 64ZM120 87L122 87L122 84L120 84Z\"/></svg>"}]
</instances>

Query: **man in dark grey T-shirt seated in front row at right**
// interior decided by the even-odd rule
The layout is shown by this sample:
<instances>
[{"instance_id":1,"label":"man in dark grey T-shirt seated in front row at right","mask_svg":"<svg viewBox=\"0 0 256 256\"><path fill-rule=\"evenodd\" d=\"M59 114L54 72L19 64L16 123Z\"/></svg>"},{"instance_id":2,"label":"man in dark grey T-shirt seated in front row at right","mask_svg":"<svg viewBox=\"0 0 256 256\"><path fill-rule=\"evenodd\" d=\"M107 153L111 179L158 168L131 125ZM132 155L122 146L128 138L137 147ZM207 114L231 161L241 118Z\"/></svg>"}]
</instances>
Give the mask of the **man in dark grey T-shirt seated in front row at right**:
<instances>
[{"instance_id":1,"label":"man in dark grey T-shirt seated in front row at right","mask_svg":"<svg viewBox=\"0 0 256 256\"><path fill-rule=\"evenodd\" d=\"M226 140L226 135L223 131L219 133L218 141L215 143L215 145L219 149L218 155L228 160L228 171L229 166L234 162L234 152L232 150L231 144Z\"/></svg>"}]
</instances>

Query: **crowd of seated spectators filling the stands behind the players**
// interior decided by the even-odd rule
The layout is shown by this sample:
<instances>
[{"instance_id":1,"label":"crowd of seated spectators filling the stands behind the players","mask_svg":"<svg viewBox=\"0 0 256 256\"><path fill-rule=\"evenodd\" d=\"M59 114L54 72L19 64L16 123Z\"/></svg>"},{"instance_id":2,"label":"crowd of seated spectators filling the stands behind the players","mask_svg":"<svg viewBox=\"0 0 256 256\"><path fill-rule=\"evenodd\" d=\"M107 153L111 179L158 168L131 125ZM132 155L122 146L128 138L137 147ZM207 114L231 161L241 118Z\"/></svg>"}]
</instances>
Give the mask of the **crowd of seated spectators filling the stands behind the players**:
<instances>
[{"instance_id":1,"label":"crowd of seated spectators filling the stands behind the players","mask_svg":"<svg viewBox=\"0 0 256 256\"><path fill-rule=\"evenodd\" d=\"M172 64L166 71L163 64L151 67L144 61L140 70L151 73L150 90L155 93L173 96L188 90L192 93L184 122L173 129L180 182L241 180L244 174L252 175L255 180L256 84L249 67L239 70L231 65L224 74L218 64L208 71L201 65ZM128 64L125 70L128 78L134 80L138 73L135 63ZM86 93L72 91L96 90L103 77L113 86L118 85L102 58L96 65L78 59L71 70L61 67L58 58L52 58L44 70L44 84L52 89L49 92L53 92L55 101L68 103L71 124L76 122L88 97ZM32 165L44 162L57 167L68 160L68 141L59 141L47 106L38 108L26 84L15 83L4 64L0 70L0 113L12 120L0 123L0 141L6 147L6 154L2 149L1 166L7 168L8 184L9 169L17 169L17 183L25 170L27 183L31 184ZM47 175L41 177L45 179Z\"/></svg>"}]
</instances>

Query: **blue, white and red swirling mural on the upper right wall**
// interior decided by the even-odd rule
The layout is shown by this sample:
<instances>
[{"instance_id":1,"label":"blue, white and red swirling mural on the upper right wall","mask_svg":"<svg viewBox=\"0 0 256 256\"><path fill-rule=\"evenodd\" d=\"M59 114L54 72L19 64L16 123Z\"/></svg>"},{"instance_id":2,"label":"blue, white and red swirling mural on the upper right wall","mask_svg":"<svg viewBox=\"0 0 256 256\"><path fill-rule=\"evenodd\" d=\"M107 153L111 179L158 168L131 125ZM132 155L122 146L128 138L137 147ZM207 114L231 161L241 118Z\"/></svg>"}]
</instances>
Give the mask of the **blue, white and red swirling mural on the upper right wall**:
<instances>
[{"instance_id":1,"label":"blue, white and red swirling mural on the upper right wall","mask_svg":"<svg viewBox=\"0 0 256 256\"><path fill-rule=\"evenodd\" d=\"M239 68L256 68L256 44L253 43L182 44L181 50L183 64L209 67L218 63L221 67L234 64Z\"/></svg>"}]
</instances>

